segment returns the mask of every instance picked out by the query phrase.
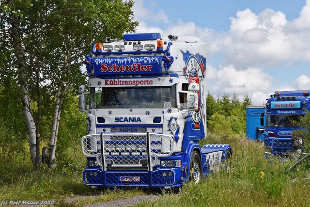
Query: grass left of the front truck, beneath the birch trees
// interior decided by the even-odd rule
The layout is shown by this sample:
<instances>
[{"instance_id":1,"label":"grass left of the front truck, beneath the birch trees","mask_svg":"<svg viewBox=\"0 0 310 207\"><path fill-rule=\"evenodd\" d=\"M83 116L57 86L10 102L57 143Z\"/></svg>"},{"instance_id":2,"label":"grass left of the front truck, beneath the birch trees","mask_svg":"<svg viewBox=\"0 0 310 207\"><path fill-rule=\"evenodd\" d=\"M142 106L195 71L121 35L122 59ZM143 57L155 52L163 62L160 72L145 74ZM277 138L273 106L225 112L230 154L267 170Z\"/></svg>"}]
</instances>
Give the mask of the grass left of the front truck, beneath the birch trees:
<instances>
[{"instance_id":1,"label":"grass left of the front truck, beneath the birch trees","mask_svg":"<svg viewBox=\"0 0 310 207\"><path fill-rule=\"evenodd\" d=\"M86 167L86 159L80 148L75 153L70 149L58 159L53 169L41 165L40 170L33 172L31 159L16 154L15 157L0 157L0 201L18 200L53 200L62 203L64 199L86 196L85 202L109 201L125 196L144 194L143 191L109 190L97 191L83 184L82 171ZM90 197L87 195L97 195ZM98 197L99 196L99 197ZM87 199L87 197L89 197ZM68 202L67 202L68 203ZM77 202L78 203L78 202ZM76 202L68 203L74 206Z\"/></svg>"}]
</instances>

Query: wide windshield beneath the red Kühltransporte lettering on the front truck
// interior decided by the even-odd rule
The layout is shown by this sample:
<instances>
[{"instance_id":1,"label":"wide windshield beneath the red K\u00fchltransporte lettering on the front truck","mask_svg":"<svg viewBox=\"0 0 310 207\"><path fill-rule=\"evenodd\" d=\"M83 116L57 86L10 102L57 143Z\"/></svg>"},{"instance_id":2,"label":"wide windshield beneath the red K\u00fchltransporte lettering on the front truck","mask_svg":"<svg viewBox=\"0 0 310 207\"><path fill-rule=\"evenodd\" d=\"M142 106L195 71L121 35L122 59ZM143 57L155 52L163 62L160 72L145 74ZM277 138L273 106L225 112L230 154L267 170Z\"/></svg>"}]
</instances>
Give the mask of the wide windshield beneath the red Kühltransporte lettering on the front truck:
<instances>
[{"instance_id":1,"label":"wide windshield beneath the red K\u00fchltransporte lettering on the front truck","mask_svg":"<svg viewBox=\"0 0 310 207\"><path fill-rule=\"evenodd\" d=\"M90 108L176 108L176 85L91 88Z\"/></svg>"}]
</instances>

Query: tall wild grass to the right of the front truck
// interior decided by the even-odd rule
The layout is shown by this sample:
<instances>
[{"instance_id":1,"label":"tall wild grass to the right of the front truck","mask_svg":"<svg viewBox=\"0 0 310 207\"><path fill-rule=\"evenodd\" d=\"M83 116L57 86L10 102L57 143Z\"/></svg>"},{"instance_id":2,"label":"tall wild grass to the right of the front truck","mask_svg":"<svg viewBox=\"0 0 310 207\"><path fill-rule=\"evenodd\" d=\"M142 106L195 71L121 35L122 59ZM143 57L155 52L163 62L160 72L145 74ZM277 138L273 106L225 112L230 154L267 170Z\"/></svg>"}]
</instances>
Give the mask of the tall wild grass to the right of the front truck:
<instances>
[{"instance_id":1,"label":"tall wild grass to the right of the front truck","mask_svg":"<svg viewBox=\"0 0 310 207\"><path fill-rule=\"evenodd\" d=\"M208 175L201 183L187 183L178 194L167 193L153 207L309 207L309 160L283 174L295 161L264 157L263 144L237 137L211 135L206 143L230 143L230 168ZM151 204L141 203L139 207Z\"/></svg>"}]
</instances>

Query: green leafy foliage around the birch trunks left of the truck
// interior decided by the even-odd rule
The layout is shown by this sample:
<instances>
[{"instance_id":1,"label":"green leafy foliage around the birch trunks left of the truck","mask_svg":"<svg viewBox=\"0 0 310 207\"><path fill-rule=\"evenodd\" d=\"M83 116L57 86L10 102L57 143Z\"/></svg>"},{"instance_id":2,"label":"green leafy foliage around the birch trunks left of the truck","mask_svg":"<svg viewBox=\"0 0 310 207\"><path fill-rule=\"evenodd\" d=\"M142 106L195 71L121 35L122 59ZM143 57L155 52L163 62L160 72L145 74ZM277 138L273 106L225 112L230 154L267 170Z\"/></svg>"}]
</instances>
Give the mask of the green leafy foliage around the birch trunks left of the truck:
<instances>
[{"instance_id":1,"label":"green leafy foliage around the birch trunks left of the truck","mask_svg":"<svg viewBox=\"0 0 310 207\"><path fill-rule=\"evenodd\" d=\"M72 97L85 84L86 73L80 69L84 58L95 42L135 31L133 4L132 0L0 1L0 143L5 147L0 151L7 149L8 155L25 149L21 146L28 132L37 148L31 153L36 169L42 148L37 134L45 146L56 147L58 140L59 155L77 143L86 127L82 115L72 115L67 107L77 107ZM30 114L23 116L28 105ZM58 123L59 114L66 122ZM54 132L58 139L53 139Z\"/></svg>"}]
</instances>

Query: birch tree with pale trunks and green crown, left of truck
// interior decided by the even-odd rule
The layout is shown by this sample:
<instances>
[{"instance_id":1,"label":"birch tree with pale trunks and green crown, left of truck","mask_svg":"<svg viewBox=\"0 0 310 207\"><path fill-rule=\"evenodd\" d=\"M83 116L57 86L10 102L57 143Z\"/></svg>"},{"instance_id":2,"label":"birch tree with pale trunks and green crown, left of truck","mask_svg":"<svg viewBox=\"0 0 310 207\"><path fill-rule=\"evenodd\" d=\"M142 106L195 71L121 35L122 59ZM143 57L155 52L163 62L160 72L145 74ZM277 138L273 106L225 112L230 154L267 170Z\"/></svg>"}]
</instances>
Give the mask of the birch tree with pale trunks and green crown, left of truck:
<instances>
[{"instance_id":1,"label":"birch tree with pale trunks and green crown, left of truck","mask_svg":"<svg viewBox=\"0 0 310 207\"><path fill-rule=\"evenodd\" d=\"M63 98L85 82L81 64L96 41L134 32L133 1L0 0L0 6L0 50L13 52L1 69L17 74L11 78L19 84L33 169L41 137L49 137L53 167Z\"/></svg>"}]
</instances>

